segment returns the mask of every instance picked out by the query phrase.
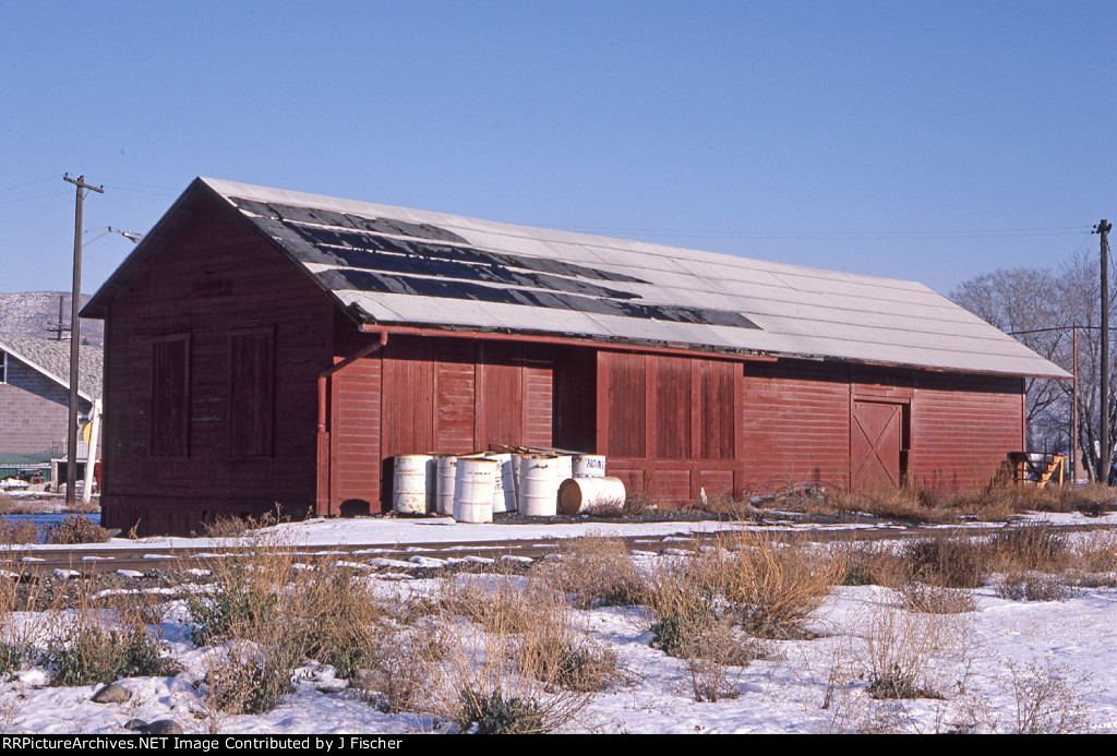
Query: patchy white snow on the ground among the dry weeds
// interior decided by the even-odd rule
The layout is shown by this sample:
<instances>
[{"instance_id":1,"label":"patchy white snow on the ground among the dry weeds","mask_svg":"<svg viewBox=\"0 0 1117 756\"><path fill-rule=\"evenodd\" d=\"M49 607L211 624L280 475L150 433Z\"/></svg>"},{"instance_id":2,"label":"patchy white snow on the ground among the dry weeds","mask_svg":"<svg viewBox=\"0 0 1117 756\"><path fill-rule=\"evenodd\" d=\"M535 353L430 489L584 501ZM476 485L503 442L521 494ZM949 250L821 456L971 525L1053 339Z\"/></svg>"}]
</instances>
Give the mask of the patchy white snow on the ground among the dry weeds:
<instances>
[{"instance_id":1,"label":"patchy white snow on the ground among the dry weeds","mask_svg":"<svg viewBox=\"0 0 1117 756\"><path fill-rule=\"evenodd\" d=\"M1069 521L1071 517L1048 517ZM1097 520L1091 520L1097 521ZM675 533L725 528L725 524L594 526L595 534ZM507 532L506 532L507 530ZM321 520L283 526L286 543L410 543L540 538L585 535L580 526L450 525L446 520ZM153 553L188 539L149 539ZM130 542L131 543L131 542ZM191 542L197 543L197 542ZM113 545L113 544L109 544ZM639 555L650 568L657 559ZM378 591L413 593L433 581L371 577ZM523 578L512 578L523 580ZM561 731L574 733L1013 733L1117 729L1117 588L1081 588L1065 601L997 597L993 585L972 592L976 610L914 614L894 591L840 586L812 615L812 640L765 641L767 658L724 670L716 702L696 701L687 662L652 648L653 618L640 607L574 610L593 638L618 653L624 679L593 693ZM42 618L20 615L12 622ZM185 733L404 734L446 731L445 721L409 712L384 712L338 680L333 668L298 670L294 693L255 716L222 715L207 705L201 685L212 648L190 642L184 605L155 628L184 668L171 678L123 680L124 704L96 704L101 686L49 687L46 672L23 669L0 685L0 726L36 734L121 734L126 722L173 719ZM926 687L939 698L876 700L866 692L870 649L906 639L925 643Z\"/></svg>"}]
</instances>

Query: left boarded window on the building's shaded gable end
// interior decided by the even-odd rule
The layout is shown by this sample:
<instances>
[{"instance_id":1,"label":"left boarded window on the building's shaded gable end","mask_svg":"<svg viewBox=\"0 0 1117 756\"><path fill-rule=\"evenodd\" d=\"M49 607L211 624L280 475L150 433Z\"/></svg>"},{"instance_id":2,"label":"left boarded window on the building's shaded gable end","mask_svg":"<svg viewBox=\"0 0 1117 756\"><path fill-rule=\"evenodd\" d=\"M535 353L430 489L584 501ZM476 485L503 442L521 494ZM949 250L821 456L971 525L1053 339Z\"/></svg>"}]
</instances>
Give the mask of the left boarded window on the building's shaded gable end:
<instances>
[{"instance_id":1,"label":"left boarded window on the building's shaded gable end","mask_svg":"<svg viewBox=\"0 0 1117 756\"><path fill-rule=\"evenodd\" d=\"M190 448L190 336L152 344L151 453L185 457Z\"/></svg>"}]
</instances>

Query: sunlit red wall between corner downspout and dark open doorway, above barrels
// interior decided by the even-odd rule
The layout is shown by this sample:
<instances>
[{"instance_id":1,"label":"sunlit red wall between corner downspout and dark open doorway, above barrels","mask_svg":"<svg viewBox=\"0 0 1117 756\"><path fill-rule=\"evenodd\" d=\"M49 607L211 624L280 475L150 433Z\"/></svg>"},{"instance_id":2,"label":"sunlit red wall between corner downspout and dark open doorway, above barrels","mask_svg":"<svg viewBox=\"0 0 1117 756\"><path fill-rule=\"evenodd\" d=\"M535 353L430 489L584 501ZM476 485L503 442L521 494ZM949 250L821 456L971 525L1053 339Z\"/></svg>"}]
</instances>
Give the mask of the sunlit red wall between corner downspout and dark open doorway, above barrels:
<instances>
[{"instance_id":1,"label":"sunlit red wall between corner downspout and dark open doorway, above barrels","mask_svg":"<svg viewBox=\"0 0 1117 756\"><path fill-rule=\"evenodd\" d=\"M335 358L371 338L340 336ZM553 373L551 351L531 344L390 338L333 379L328 511L390 508L398 454L551 447Z\"/></svg>"}]
</instances>

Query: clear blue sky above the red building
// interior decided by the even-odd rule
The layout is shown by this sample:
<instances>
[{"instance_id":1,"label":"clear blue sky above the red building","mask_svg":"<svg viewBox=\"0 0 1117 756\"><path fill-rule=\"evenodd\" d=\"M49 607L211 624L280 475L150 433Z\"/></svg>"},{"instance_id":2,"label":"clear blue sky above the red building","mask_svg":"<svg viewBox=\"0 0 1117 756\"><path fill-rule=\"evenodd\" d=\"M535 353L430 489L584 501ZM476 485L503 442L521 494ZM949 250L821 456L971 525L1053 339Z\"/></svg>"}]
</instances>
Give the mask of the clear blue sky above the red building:
<instances>
[{"instance_id":1,"label":"clear blue sky above the red building","mask_svg":"<svg viewBox=\"0 0 1117 756\"><path fill-rule=\"evenodd\" d=\"M915 279L1117 219L1115 2L0 10L0 291L83 289L195 175Z\"/></svg>"}]
</instances>

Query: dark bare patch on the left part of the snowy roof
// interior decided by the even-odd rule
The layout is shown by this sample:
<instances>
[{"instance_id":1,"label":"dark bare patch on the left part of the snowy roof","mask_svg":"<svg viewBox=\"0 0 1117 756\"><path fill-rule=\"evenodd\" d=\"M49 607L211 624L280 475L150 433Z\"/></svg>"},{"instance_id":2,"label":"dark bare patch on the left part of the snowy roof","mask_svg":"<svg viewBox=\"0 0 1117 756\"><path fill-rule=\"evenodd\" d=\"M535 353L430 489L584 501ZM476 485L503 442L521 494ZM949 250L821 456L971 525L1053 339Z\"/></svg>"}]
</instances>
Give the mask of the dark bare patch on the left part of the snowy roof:
<instances>
[{"instance_id":1,"label":"dark bare patch on the left part of the snowy roof","mask_svg":"<svg viewBox=\"0 0 1117 756\"><path fill-rule=\"evenodd\" d=\"M355 289L758 328L741 313L643 303L638 293L623 286L648 285L640 278L562 260L479 249L431 223L241 198L230 201L300 261L328 266L315 275L333 291Z\"/></svg>"}]
</instances>

